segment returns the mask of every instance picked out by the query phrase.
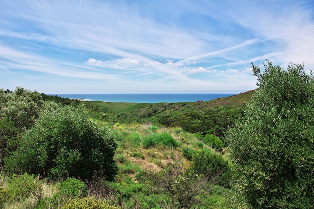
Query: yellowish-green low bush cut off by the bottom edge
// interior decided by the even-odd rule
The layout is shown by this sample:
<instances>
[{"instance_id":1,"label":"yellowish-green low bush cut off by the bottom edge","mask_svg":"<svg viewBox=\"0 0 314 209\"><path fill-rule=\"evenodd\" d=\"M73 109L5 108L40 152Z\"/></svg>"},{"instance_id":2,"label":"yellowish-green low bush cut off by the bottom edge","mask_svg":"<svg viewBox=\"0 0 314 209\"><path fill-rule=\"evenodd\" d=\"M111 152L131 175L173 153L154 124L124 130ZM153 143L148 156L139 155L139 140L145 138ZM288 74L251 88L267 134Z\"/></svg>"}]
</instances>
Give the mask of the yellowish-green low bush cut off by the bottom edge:
<instances>
[{"instance_id":1,"label":"yellowish-green low bush cut off by the bottom edge","mask_svg":"<svg viewBox=\"0 0 314 209\"><path fill-rule=\"evenodd\" d=\"M84 197L82 199L76 198L69 200L62 209L121 209L119 206L108 205L101 199L94 197Z\"/></svg>"}]
</instances>

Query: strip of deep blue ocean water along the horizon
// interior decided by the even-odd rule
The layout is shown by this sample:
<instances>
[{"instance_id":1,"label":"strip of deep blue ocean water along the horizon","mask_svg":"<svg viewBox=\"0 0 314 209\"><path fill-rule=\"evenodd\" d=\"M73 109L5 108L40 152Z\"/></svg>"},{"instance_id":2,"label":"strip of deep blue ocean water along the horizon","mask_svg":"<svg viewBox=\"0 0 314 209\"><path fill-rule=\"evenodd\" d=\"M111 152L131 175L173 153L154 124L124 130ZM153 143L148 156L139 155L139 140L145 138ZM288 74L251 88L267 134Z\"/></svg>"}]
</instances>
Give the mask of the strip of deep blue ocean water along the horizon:
<instances>
[{"instance_id":1,"label":"strip of deep blue ocean water along the horizon","mask_svg":"<svg viewBox=\"0 0 314 209\"><path fill-rule=\"evenodd\" d=\"M104 102L160 103L209 101L235 94L56 94L70 99L85 99Z\"/></svg>"}]
</instances>

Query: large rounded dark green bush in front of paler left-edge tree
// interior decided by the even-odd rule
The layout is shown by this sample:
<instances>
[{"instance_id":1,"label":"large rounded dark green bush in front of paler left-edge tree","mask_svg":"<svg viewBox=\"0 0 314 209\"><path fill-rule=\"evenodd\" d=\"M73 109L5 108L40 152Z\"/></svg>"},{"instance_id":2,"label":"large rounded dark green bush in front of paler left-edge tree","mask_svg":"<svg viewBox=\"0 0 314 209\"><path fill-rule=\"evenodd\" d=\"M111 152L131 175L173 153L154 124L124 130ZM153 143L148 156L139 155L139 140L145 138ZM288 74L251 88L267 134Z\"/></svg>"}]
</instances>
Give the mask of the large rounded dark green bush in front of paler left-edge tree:
<instances>
[{"instance_id":1,"label":"large rounded dark green bush in front of paler left-edge tree","mask_svg":"<svg viewBox=\"0 0 314 209\"><path fill-rule=\"evenodd\" d=\"M15 172L92 179L98 175L112 179L114 135L96 126L84 107L74 109L47 103L36 124L22 137L18 150L7 161Z\"/></svg>"}]
</instances>

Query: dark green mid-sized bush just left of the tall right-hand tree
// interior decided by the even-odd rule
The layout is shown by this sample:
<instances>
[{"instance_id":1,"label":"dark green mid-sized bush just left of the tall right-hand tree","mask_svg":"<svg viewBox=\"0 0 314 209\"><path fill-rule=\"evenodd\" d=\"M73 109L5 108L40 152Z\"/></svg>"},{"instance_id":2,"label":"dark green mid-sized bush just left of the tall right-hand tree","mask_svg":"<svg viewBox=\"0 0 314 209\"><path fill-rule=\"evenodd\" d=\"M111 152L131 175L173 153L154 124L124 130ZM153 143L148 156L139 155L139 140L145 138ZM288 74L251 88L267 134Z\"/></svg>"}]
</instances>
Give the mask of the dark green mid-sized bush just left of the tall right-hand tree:
<instances>
[{"instance_id":1,"label":"dark green mid-sized bush just left of the tall right-hand tree","mask_svg":"<svg viewBox=\"0 0 314 209\"><path fill-rule=\"evenodd\" d=\"M204 174L209 179L215 179L215 184L230 186L231 167L228 160L224 159L221 154L215 154L209 149L204 149L194 155L192 162L192 169L196 174Z\"/></svg>"}]
</instances>

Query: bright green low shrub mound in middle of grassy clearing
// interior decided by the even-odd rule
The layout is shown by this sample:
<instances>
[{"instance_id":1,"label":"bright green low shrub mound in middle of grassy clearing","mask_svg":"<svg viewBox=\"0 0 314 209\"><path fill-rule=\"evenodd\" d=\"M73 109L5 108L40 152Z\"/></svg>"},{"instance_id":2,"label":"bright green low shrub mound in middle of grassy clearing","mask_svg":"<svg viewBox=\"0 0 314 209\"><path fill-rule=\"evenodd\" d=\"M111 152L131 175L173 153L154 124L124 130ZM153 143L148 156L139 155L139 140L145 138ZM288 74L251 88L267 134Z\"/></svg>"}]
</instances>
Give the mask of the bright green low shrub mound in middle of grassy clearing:
<instances>
[{"instance_id":1,"label":"bright green low shrub mound in middle of grassy clearing","mask_svg":"<svg viewBox=\"0 0 314 209\"><path fill-rule=\"evenodd\" d=\"M179 142L168 132L150 134L145 136L142 140L142 146L144 148L155 146L158 143L174 148L179 145Z\"/></svg>"}]
</instances>

